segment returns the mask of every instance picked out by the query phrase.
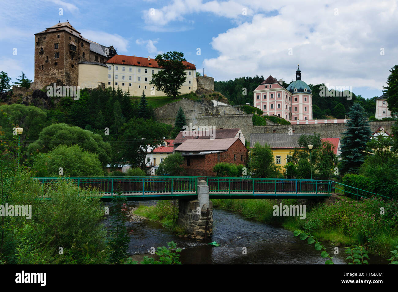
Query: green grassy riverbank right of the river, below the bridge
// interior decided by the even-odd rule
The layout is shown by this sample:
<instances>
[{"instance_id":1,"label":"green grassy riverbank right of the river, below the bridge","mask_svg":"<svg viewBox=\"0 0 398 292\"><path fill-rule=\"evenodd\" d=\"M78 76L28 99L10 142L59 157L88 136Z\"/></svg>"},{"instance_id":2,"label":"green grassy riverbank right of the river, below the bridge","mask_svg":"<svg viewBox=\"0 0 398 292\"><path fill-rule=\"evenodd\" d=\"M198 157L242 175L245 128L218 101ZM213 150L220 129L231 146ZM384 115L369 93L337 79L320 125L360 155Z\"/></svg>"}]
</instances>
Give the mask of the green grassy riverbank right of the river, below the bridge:
<instances>
[{"instance_id":1,"label":"green grassy riverbank right of the river, below the bridge","mask_svg":"<svg viewBox=\"0 0 398 292\"><path fill-rule=\"evenodd\" d=\"M334 204L308 204L306 218L273 216L273 206L300 205L295 199L212 199L213 207L231 210L246 218L301 229L318 239L339 246L365 245L370 253L388 257L398 244L398 204L378 199L352 200L341 197ZM384 214L380 214L384 208Z\"/></svg>"}]
</instances>

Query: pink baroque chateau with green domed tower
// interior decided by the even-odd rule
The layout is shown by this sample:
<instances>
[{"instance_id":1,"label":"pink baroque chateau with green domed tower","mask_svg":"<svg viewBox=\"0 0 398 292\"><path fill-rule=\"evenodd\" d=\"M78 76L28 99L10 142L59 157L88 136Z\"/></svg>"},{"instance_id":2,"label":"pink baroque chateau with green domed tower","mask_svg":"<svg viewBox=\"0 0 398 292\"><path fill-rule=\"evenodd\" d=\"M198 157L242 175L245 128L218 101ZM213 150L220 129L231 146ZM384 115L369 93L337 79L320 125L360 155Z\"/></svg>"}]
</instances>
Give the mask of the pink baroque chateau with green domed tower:
<instances>
[{"instance_id":1,"label":"pink baroque chateau with green domed tower","mask_svg":"<svg viewBox=\"0 0 398 292\"><path fill-rule=\"evenodd\" d=\"M312 120L312 94L310 87L301 80L297 65L296 81L287 88L282 79L269 76L253 91L254 106L264 115L275 115L285 120Z\"/></svg>"}]
</instances>

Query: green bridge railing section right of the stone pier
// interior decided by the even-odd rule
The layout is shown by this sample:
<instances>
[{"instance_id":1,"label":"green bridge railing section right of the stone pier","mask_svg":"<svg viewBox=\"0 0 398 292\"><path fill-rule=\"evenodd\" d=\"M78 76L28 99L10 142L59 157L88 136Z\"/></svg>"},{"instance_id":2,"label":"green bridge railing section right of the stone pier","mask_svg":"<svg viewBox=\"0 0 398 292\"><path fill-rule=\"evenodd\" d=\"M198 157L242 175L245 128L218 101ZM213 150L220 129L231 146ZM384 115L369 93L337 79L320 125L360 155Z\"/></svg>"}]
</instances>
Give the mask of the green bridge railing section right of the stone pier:
<instances>
[{"instance_id":1,"label":"green bridge railing section right of the stone pier","mask_svg":"<svg viewBox=\"0 0 398 292\"><path fill-rule=\"evenodd\" d=\"M329 180L206 177L210 194L330 194Z\"/></svg>"}]
</instances>

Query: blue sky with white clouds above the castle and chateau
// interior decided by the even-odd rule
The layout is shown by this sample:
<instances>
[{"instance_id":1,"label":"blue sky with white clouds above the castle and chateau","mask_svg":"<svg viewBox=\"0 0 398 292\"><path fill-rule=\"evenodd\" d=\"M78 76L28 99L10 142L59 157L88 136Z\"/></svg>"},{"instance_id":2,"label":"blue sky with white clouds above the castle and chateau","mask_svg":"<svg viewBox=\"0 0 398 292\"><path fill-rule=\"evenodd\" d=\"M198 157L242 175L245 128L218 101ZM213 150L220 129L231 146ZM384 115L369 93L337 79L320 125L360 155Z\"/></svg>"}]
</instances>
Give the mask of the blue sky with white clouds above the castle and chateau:
<instances>
[{"instance_id":1,"label":"blue sky with white clouds above the castle and chateau","mask_svg":"<svg viewBox=\"0 0 398 292\"><path fill-rule=\"evenodd\" d=\"M182 52L216 81L274 76L380 96L398 64L397 0L0 0L0 71L34 79L34 33L60 22L119 55Z\"/></svg>"}]
</instances>

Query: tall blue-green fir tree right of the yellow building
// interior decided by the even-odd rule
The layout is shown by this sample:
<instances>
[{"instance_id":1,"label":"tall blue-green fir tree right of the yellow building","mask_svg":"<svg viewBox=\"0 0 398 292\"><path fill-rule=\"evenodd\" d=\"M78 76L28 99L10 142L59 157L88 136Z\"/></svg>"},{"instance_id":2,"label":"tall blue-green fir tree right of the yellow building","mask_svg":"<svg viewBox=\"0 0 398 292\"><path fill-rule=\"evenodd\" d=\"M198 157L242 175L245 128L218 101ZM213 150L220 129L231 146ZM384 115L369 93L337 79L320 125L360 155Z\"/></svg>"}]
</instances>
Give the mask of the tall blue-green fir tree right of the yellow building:
<instances>
[{"instance_id":1,"label":"tall blue-green fir tree right of the yellow building","mask_svg":"<svg viewBox=\"0 0 398 292\"><path fill-rule=\"evenodd\" d=\"M341 139L340 171L355 173L368 155L366 143L372 132L361 104L354 103L348 112L348 118L346 130Z\"/></svg>"}]
</instances>

